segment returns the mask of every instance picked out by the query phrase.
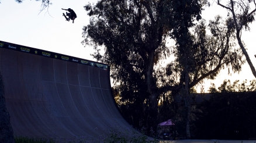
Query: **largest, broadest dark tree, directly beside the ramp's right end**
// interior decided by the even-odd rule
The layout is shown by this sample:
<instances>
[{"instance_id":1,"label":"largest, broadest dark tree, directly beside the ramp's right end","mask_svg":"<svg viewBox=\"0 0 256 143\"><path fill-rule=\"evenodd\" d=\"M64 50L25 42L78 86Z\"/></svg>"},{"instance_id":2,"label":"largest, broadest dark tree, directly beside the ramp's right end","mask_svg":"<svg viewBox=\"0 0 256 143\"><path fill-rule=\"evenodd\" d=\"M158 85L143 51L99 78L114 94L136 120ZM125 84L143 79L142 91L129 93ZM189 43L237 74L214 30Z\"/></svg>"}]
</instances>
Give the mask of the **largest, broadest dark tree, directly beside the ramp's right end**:
<instances>
[{"instance_id":1,"label":"largest, broadest dark tree, directly beside the ramp's right end","mask_svg":"<svg viewBox=\"0 0 256 143\"><path fill-rule=\"evenodd\" d=\"M150 108L149 124L156 124L158 92L155 63L169 55L165 46L171 29L170 0L101 0L84 6L91 17L82 42L93 45L94 58L108 63L123 102L141 100ZM105 47L100 55L99 48ZM126 96L127 95L127 96Z\"/></svg>"}]
</instances>

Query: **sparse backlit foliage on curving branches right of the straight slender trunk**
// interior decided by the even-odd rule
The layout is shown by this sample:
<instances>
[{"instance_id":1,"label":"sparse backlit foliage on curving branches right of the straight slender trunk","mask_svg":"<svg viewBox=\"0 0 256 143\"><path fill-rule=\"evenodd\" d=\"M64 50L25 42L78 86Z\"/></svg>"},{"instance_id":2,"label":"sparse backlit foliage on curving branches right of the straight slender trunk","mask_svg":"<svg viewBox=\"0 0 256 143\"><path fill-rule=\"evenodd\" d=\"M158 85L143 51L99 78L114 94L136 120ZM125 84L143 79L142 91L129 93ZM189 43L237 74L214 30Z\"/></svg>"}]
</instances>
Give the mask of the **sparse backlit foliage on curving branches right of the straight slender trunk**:
<instances>
[{"instance_id":1,"label":"sparse backlit foliage on curving branches right of the straight slender trunk","mask_svg":"<svg viewBox=\"0 0 256 143\"><path fill-rule=\"evenodd\" d=\"M222 17L216 16L206 26L205 20L193 30L193 47L191 52L191 84L193 87L203 79L215 79L221 69L227 67L233 72L240 72L245 63L241 49L236 48L234 29L227 25ZM206 34L210 31L210 34Z\"/></svg>"}]
</instances>

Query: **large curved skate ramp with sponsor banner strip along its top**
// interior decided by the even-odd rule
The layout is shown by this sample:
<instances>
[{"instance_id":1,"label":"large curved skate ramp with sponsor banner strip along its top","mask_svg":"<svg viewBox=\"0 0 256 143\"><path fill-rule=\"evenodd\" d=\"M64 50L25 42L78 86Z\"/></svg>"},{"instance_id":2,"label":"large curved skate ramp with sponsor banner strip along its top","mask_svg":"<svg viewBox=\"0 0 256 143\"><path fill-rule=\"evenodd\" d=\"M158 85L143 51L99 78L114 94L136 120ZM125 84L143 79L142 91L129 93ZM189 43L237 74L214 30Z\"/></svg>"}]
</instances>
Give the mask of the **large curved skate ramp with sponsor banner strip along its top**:
<instances>
[{"instance_id":1,"label":"large curved skate ramp with sponsor banner strip along its top","mask_svg":"<svg viewBox=\"0 0 256 143\"><path fill-rule=\"evenodd\" d=\"M0 41L0 70L15 136L95 137L126 130L109 66Z\"/></svg>"}]
</instances>

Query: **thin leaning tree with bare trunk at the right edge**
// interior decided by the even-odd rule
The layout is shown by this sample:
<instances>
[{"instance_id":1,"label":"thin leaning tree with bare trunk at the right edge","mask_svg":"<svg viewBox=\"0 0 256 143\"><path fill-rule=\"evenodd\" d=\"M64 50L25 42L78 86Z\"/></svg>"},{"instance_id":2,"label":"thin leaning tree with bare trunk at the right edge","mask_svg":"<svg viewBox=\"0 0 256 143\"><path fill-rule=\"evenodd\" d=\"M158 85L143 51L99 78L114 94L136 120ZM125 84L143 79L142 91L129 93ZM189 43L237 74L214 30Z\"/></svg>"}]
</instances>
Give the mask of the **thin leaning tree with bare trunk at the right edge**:
<instances>
[{"instance_id":1,"label":"thin leaning tree with bare trunk at the right edge","mask_svg":"<svg viewBox=\"0 0 256 143\"><path fill-rule=\"evenodd\" d=\"M219 6L222 6L222 8L225 8L228 10L230 13L228 16L231 17L230 24L233 24L234 27L236 28L236 38L237 42L240 46L240 48L243 51L243 54L247 60L248 65L251 68L251 72L256 77L256 70L255 67L252 65L251 59L248 56L248 53L244 47L244 43L241 40L241 33L242 30L250 30L249 24L252 23L255 18L255 12L256 12L256 2L255 0L230 0L227 2L226 5L223 5L223 3L220 2L220 0L217 1L217 4ZM254 8L252 8L254 7ZM252 10L251 10L252 9ZM251 11L250 11L251 10Z\"/></svg>"}]
</instances>

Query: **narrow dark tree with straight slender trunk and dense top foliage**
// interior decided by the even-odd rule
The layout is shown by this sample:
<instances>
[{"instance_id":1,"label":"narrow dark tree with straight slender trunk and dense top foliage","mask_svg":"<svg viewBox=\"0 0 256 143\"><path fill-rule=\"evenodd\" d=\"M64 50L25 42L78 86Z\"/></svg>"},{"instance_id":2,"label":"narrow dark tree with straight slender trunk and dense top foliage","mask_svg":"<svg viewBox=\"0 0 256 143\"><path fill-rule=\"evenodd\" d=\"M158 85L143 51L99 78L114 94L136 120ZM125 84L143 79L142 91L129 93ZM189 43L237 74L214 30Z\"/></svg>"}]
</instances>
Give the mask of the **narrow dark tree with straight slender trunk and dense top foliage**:
<instances>
[{"instance_id":1,"label":"narrow dark tree with straight slender trunk and dense top foliage","mask_svg":"<svg viewBox=\"0 0 256 143\"><path fill-rule=\"evenodd\" d=\"M181 0L172 2L172 8L174 8L174 30L171 36L176 40L177 48L177 60L181 69L182 76L184 76L184 94L185 94L185 105L187 110L186 117L186 137L191 138L189 129L189 115L190 115L190 104L189 104L189 70L192 69L191 65L195 59L193 59L192 45L193 40L189 28L194 26L194 21L201 19L200 13L202 6L205 5L206 1L191 1ZM192 69L193 70L193 69ZM191 71L193 72L193 71Z\"/></svg>"}]
</instances>

